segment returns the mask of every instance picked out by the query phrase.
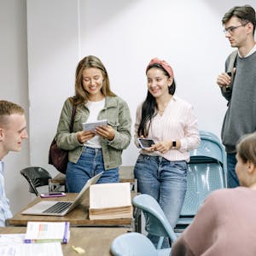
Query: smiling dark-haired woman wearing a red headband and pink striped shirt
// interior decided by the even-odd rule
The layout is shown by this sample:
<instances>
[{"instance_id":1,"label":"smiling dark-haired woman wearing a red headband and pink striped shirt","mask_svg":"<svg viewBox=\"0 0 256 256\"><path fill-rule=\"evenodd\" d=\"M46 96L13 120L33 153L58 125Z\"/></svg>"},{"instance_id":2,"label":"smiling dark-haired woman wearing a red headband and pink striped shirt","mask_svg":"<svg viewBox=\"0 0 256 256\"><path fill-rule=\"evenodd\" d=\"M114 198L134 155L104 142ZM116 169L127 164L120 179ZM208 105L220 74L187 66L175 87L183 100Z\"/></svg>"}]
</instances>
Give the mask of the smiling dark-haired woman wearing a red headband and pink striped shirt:
<instances>
[{"instance_id":1,"label":"smiling dark-haired woman wearing a red headband and pink striped shirt","mask_svg":"<svg viewBox=\"0 0 256 256\"><path fill-rule=\"evenodd\" d=\"M137 138L143 137L154 144L141 149L134 173L139 191L160 203L174 228L187 189L189 150L200 144L197 118L188 102L174 96L176 84L166 61L151 60L146 75L148 95L137 108L135 143L139 147ZM148 237L157 244L159 237ZM163 247L169 246L166 239Z\"/></svg>"}]
</instances>

